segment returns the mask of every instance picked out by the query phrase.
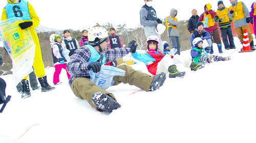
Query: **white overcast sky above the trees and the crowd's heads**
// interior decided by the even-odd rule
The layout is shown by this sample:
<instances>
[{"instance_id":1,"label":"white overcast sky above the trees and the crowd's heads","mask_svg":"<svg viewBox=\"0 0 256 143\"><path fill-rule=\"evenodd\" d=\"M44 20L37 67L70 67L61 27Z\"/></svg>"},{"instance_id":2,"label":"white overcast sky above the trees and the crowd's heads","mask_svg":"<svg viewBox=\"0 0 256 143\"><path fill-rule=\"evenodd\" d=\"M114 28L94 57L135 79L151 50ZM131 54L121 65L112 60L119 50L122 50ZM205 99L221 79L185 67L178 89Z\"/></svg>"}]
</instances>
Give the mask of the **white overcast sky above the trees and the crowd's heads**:
<instances>
[{"instance_id":1,"label":"white overcast sky above the trees and the crowd's heads","mask_svg":"<svg viewBox=\"0 0 256 143\"><path fill-rule=\"evenodd\" d=\"M40 18L40 25L58 30L72 28L82 30L95 25L96 22L106 22L115 25L126 23L128 27L139 26L139 11L144 5L143 0L27 0L35 9ZM160 19L169 15L170 9L178 10L178 20L187 20L191 10L197 9L198 15L203 12L205 4L210 3L213 10L217 10L218 0L154 0L153 8ZM243 1L250 11L252 0ZM226 7L231 4L223 1ZM0 9L7 4L7 0L0 0ZM2 11L1 11L2 14Z\"/></svg>"}]
</instances>

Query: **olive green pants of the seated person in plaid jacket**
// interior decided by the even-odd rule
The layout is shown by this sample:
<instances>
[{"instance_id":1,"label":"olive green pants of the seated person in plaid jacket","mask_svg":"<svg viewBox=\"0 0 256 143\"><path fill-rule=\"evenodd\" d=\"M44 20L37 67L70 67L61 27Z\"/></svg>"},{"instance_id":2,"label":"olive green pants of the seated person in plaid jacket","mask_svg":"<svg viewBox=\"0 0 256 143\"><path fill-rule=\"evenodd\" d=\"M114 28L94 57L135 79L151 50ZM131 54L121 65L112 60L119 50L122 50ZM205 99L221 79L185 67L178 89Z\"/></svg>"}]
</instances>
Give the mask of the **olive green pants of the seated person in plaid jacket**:
<instances>
[{"instance_id":1,"label":"olive green pants of the seated person in plaid jacket","mask_svg":"<svg viewBox=\"0 0 256 143\"><path fill-rule=\"evenodd\" d=\"M136 71L127 65L120 65L117 66L117 68L124 70L125 75L114 76L113 79L115 83L113 85L118 85L119 83L129 83L130 85L135 85L144 91L148 91L150 89L153 76ZM76 78L71 84L71 89L77 97L87 100L94 108L96 108L96 106L93 104L91 98L96 92L102 92L116 99L112 93L100 89L96 84L91 82L89 78L85 77Z\"/></svg>"}]
</instances>

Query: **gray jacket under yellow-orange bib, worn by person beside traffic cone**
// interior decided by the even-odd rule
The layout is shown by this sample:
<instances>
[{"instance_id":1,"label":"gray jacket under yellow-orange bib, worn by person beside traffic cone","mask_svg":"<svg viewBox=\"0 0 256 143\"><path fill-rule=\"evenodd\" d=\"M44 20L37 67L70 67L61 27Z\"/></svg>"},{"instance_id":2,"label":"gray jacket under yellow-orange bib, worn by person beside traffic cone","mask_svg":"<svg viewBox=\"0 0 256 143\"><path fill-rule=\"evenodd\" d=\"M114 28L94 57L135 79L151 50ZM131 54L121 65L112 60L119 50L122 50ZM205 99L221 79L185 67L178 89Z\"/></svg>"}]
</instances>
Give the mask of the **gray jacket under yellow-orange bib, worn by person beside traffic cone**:
<instances>
[{"instance_id":1,"label":"gray jacket under yellow-orange bib, worn by person beside traffic cone","mask_svg":"<svg viewBox=\"0 0 256 143\"><path fill-rule=\"evenodd\" d=\"M232 4L233 7L236 7L238 4L238 0L234 1L234 4ZM247 17L250 17L250 13L247 9L247 7L245 6L245 4L243 2L241 2L241 4L243 5L243 11L244 11L244 14L245 14L245 18L242 18L242 19L239 19L239 20L236 20L236 21L233 21L234 23L234 28L238 28L238 27L242 27L244 25L247 25L248 23L246 22L246 18ZM233 14L231 14L230 12L228 12L228 17L229 18L232 18L233 19Z\"/></svg>"}]
</instances>

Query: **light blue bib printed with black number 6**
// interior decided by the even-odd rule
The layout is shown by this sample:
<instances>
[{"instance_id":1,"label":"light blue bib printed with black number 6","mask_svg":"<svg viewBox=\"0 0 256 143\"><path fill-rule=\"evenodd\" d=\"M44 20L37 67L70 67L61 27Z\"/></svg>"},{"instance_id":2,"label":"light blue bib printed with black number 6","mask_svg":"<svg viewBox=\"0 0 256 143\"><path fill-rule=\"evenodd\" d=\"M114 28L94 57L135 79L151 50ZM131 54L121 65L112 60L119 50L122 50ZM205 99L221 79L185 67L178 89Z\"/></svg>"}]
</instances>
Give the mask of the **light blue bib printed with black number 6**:
<instances>
[{"instance_id":1,"label":"light blue bib printed with black number 6","mask_svg":"<svg viewBox=\"0 0 256 143\"><path fill-rule=\"evenodd\" d=\"M28 2L25 0L22 0L17 4L7 3L5 6L5 12L8 18L18 17L22 20L31 20Z\"/></svg>"}]
</instances>

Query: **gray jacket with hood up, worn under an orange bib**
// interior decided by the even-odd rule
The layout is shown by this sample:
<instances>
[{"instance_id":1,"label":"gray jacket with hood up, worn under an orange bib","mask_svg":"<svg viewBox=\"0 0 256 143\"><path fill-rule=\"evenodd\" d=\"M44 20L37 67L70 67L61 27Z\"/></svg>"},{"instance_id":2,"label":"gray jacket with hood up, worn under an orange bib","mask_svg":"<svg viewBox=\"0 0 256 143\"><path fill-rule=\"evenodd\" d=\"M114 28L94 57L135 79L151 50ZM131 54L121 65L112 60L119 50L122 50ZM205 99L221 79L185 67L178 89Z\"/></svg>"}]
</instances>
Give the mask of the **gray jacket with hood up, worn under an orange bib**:
<instances>
[{"instance_id":1,"label":"gray jacket with hood up, worn under an orange bib","mask_svg":"<svg viewBox=\"0 0 256 143\"><path fill-rule=\"evenodd\" d=\"M170 16L172 16L173 18L176 17L176 15L174 15L174 11L177 11L176 9L171 9L170 10ZM178 13L178 12L177 12ZM174 19L171 17L167 17L167 21L169 23L169 29L168 29L168 36L178 36L179 37L179 30L178 28L180 27L180 22L179 21L174 21ZM170 25L174 25L177 27L177 29L172 28Z\"/></svg>"}]
</instances>

